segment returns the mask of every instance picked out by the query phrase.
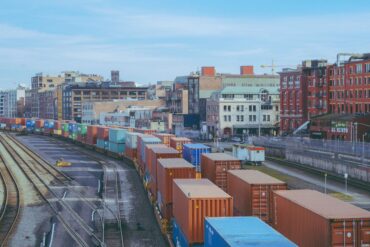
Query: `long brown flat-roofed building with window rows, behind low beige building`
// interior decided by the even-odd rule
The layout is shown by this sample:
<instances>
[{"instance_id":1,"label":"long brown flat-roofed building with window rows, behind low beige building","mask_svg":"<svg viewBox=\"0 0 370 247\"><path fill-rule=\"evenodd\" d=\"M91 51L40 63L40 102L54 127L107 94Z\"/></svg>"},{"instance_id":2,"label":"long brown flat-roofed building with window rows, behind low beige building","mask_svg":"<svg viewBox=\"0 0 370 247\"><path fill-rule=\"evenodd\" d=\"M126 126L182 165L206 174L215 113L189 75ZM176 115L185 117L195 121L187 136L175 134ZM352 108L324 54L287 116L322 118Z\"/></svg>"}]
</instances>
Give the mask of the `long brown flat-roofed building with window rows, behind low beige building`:
<instances>
[{"instance_id":1,"label":"long brown flat-roofed building with window rows, behind low beige building","mask_svg":"<svg viewBox=\"0 0 370 247\"><path fill-rule=\"evenodd\" d=\"M106 82L87 82L65 85L63 88L63 119L80 122L82 104L87 101L147 99L147 87L121 87Z\"/></svg>"}]
</instances>

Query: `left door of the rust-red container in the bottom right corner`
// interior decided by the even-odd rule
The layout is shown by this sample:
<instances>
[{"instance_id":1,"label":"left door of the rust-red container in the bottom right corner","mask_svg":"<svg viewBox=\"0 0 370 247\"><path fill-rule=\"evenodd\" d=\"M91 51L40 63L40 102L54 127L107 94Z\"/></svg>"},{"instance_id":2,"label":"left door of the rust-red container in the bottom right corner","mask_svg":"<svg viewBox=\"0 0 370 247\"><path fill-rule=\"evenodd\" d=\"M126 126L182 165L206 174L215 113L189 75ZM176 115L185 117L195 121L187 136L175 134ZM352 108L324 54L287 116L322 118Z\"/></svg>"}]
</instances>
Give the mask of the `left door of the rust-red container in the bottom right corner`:
<instances>
[{"instance_id":1,"label":"left door of the rust-red container in the bottom right corner","mask_svg":"<svg viewBox=\"0 0 370 247\"><path fill-rule=\"evenodd\" d=\"M354 247L356 244L357 222L351 220L336 221L331 223L331 246Z\"/></svg>"}]
</instances>

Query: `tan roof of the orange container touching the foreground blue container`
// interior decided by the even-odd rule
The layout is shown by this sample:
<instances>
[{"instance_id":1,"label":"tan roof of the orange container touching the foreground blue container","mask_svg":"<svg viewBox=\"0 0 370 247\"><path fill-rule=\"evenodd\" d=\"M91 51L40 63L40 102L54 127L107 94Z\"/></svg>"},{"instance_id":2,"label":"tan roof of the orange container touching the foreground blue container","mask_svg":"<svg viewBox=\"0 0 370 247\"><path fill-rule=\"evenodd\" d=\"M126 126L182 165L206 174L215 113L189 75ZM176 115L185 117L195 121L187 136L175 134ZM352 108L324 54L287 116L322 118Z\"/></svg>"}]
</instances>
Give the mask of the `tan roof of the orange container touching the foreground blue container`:
<instances>
[{"instance_id":1,"label":"tan roof of the orange container touching the foreground blue container","mask_svg":"<svg viewBox=\"0 0 370 247\"><path fill-rule=\"evenodd\" d=\"M208 179L174 179L188 198L231 198Z\"/></svg>"}]
</instances>

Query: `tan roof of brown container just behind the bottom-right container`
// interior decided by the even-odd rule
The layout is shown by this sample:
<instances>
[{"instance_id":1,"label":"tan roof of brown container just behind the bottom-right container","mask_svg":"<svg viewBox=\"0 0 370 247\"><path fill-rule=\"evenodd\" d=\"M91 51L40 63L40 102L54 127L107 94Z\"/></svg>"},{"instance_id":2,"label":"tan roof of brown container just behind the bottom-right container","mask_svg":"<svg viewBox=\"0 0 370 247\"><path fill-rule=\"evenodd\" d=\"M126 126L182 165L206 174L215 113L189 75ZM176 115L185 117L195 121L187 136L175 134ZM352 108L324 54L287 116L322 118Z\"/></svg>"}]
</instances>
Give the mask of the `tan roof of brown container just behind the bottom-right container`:
<instances>
[{"instance_id":1,"label":"tan roof of brown container just behind the bottom-right container","mask_svg":"<svg viewBox=\"0 0 370 247\"><path fill-rule=\"evenodd\" d=\"M285 184L285 182L256 170L229 170L229 173L249 184Z\"/></svg>"}]
</instances>

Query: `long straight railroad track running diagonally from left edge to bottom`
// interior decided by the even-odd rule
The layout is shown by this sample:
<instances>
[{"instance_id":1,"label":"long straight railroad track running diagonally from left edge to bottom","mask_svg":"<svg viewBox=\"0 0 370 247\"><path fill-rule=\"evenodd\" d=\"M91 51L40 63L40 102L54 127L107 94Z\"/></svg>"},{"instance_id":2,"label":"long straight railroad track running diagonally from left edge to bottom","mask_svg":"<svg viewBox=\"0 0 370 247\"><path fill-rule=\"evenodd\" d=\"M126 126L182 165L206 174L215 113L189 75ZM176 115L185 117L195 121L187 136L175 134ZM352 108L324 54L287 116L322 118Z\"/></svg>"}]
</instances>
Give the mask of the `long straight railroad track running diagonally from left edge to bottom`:
<instances>
[{"instance_id":1,"label":"long straight railroad track running diagonally from left edge to bottom","mask_svg":"<svg viewBox=\"0 0 370 247\"><path fill-rule=\"evenodd\" d=\"M96 245L103 246L100 239L95 235L93 229L62 200L62 195L51 189L50 183L54 179L62 179L60 174L53 172L50 166L38 164L32 155L20 148L19 143L12 141L9 135L1 135L0 143L5 147L28 180L33 184L35 190L47 202L56 218L64 226L64 229L79 246L91 246L85 239L91 239ZM49 181L47 181L47 179ZM73 224L72 224L73 223ZM83 236L85 237L83 237Z\"/></svg>"}]
</instances>

